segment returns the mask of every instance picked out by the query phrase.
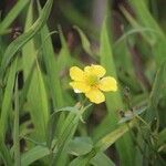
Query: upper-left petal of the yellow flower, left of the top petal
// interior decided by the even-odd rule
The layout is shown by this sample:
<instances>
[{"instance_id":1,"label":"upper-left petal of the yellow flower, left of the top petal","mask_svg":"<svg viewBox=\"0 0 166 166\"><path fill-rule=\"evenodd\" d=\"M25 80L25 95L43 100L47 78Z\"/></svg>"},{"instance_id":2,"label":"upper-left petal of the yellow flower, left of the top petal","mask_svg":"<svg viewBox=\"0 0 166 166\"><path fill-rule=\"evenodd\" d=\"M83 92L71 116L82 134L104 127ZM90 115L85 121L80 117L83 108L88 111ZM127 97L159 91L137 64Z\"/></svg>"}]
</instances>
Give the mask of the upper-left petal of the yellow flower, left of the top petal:
<instances>
[{"instance_id":1,"label":"upper-left petal of the yellow flower, left of the top petal","mask_svg":"<svg viewBox=\"0 0 166 166\"><path fill-rule=\"evenodd\" d=\"M70 69L70 76L74 81L83 81L84 80L84 72L77 66L72 66Z\"/></svg>"}]
</instances>

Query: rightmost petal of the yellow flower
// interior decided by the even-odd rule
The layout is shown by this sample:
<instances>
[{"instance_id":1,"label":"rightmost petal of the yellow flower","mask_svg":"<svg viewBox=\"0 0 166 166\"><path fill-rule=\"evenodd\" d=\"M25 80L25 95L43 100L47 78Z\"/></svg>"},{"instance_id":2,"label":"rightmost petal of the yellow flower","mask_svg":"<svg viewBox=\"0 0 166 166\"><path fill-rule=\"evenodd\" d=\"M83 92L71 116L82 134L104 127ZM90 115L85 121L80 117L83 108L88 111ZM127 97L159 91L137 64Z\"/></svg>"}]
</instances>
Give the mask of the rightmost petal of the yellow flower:
<instances>
[{"instance_id":1,"label":"rightmost petal of the yellow flower","mask_svg":"<svg viewBox=\"0 0 166 166\"><path fill-rule=\"evenodd\" d=\"M100 81L98 89L105 92L117 91L116 80L112 76L105 76Z\"/></svg>"}]
</instances>

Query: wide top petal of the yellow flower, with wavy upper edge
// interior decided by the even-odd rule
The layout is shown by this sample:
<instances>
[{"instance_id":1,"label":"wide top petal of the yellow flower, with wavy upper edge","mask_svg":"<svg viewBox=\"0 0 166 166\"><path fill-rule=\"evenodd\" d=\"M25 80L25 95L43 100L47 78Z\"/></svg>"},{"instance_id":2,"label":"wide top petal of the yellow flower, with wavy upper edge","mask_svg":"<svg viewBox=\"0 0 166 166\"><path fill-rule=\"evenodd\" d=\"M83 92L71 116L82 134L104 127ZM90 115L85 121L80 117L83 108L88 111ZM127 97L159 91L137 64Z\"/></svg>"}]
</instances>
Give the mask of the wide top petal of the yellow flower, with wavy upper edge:
<instances>
[{"instance_id":1,"label":"wide top petal of the yellow flower, with wavy upper edge","mask_svg":"<svg viewBox=\"0 0 166 166\"><path fill-rule=\"evenodd\" d=\"M104 74L106 73L105 69L102 65L89 65L84 68L84 71L86 74L95 74L98 77L104 76Z\"/></svg>"}]
</instances>

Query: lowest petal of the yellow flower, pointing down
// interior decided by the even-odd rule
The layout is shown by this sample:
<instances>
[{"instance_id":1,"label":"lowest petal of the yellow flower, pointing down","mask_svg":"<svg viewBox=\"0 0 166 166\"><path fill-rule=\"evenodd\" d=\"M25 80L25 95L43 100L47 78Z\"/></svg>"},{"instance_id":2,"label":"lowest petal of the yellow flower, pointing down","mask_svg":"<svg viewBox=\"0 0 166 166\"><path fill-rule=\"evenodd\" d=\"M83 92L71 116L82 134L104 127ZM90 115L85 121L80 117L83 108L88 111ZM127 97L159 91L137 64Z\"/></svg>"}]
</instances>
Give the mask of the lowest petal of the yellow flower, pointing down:
<instances>
[{"instance_id":1,"label":"lowest petal of the yellow flower, pointing down","mask_svg":"<svg viewBox=\"0 0 166 166\"><path fill-rule=\"evenodd\" d=\"M104 94L98 89L91 89L87 93L85 93L85 96L95 104L100 104L105 101Z\"/></svg>"}]
</instances>

